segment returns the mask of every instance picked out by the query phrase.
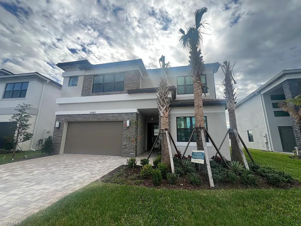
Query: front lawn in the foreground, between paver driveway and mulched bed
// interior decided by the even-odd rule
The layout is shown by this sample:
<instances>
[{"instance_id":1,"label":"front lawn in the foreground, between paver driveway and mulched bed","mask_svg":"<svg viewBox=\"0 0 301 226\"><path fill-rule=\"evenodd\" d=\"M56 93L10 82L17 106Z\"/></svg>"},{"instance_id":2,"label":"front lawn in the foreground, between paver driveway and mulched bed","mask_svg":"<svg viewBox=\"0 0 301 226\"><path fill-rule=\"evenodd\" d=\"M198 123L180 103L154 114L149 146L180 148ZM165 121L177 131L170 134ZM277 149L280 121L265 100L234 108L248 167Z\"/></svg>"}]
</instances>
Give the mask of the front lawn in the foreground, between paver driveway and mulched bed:
<instances>
[{"instance_id":1,"label":"front lawn in the foreground, between paver driveway and mulched bed","mask_svg":"<svg viewBox=\"0 0 301 226\"><path fill-rule=\"evenodd\" d=\"M156 190L94 182L22 225L299 225L300 190Z\"/></svg>"}]
</instances>

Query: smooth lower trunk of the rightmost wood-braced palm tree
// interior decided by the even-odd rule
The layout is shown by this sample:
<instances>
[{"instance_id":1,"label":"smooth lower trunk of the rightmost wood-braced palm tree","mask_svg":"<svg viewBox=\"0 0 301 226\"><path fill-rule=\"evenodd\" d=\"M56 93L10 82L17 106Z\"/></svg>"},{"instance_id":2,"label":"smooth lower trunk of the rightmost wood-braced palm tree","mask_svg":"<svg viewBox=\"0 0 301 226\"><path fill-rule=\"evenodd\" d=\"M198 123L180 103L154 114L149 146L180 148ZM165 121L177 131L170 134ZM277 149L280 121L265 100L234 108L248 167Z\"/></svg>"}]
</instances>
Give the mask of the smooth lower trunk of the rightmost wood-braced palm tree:
<instances>
[{"instance_id":1,"label":"smooth lower trunk of the rightmost wood-braced palm tree","mask_svg":"<svg viewBox=\"0 0 301 226\"><path fill-rule=\"evenodd\" d=\"M235 117L235 109L228 109L229 113L229 123L230 123L230 139L231 139L231 160L242 162L242 157L240 155L240 148L238 146L238 142L236 140L235 134L233 133L233 129L237 130L236 117Z\"/></svg>"}]
</instances>

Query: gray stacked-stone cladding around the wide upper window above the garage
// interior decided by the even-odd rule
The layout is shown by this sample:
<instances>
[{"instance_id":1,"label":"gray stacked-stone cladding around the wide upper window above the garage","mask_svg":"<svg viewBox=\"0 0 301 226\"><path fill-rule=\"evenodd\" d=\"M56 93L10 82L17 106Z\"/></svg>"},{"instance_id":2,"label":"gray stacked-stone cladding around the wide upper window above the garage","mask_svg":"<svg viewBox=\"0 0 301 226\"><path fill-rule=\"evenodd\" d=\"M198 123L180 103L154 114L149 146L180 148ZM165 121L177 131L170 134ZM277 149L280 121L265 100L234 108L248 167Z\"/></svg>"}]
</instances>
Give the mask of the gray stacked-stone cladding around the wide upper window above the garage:
<instances>
[{"instance_id":1,"label":"gray stacked-stone cladding around the wide upper window above the garage","mask_svg":"<svg viewBox=\"0 0 301 226\"><path fill-rule=\"evenodd\" d=\"M94 75L85 75L82 85L82 96L100 96L100 95L110 95L110 94L122 94L127 93L128 89L140 89L140 72L138 70L125 71L124 76L124 90L105 92L105 93L91 93L92 83ZM112 74L112 73L110 73Z\"/></svg>"}]
</instances>

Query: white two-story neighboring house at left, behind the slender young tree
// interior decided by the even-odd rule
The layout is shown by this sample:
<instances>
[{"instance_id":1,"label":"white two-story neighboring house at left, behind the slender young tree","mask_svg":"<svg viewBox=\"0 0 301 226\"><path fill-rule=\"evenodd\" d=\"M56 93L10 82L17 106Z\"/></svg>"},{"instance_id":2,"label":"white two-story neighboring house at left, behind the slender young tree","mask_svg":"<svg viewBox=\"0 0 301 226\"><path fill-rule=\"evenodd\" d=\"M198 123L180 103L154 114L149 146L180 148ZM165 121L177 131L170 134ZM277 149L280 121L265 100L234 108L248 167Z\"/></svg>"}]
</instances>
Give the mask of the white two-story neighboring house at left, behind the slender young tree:
<instances>
[{"instance_id":1,"label":"white two-story neighboring house at left, behind the slender young tree","mask_svg":"<svg viewBox=\"0 0 301 226\"><path fill-rule=\"evenodd\" d=\"M39 140L44 142L44 138L52 136L54 113L58 107L55 100L61 96L61 89L61 84L38 72L13 74L0 69L0 149L5 136L14 133L11 130L14 125L11 116L17 113L14 109L23 103L32 105L28 111L31 116L28 132L33 133L33 138L19 146L23 151L40 148L42 143Z\"/></svg>"}]
</instances>

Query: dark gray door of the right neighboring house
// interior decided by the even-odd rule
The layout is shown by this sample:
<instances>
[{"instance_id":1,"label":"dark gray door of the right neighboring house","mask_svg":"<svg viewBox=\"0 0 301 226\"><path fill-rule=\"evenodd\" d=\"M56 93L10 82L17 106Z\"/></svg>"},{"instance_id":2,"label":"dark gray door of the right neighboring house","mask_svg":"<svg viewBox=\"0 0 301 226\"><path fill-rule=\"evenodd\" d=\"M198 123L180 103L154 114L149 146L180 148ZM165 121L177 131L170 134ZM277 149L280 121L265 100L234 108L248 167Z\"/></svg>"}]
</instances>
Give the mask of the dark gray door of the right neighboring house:
<instances>
[{"instance_id":1,"label":"dark gray door of the right neighboring house","mask_svg":"<svg viewBox=\"0 0 301 226\"><path fill-rule=\"evenodd\" d=\"M297 146L293 127L291 126L278 126L279 135L281 139L282 149L284 152L292 152Z\"/></svg>"}]
</instances>

